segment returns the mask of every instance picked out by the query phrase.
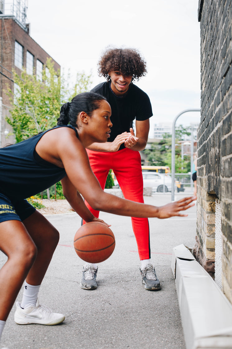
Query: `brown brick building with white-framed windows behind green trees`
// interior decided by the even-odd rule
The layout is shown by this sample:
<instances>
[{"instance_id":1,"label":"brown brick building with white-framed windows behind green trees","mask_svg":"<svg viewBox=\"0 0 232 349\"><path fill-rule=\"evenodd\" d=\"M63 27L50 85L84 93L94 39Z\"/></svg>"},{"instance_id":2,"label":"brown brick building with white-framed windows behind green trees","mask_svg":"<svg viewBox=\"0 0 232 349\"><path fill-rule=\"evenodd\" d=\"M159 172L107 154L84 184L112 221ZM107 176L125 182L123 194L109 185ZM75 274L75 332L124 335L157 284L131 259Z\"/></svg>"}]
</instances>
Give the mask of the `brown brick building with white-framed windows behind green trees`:
<instances>
[{"instance_id":1,"label":"brown brick building with white-framed windows behind green trees","mask_svg":"<svg viewBox=\"0 0 232 349\"><path fill-rule=\"evenodd\" d=\"M28 74L36 74L41 79L42 69L50 55L30 37L30 24L26 24L25 1L10 1L10 4L0 0L0 97L2 97L2 113L0 110L0 146L9 142L5 139L5 116L9 113L9 97L7 89L14 89L12 69L20 74L26 68ZM59 64L54 62L54 69L59 70ZM0 108L1 109L1 108ZM1 117L2 116L2 117ZM12 142L12 140L10 140Z\"/></svg>"}]
</instances>

